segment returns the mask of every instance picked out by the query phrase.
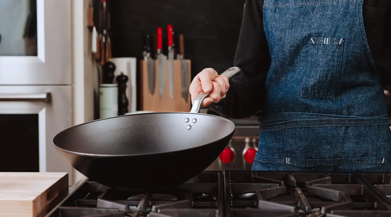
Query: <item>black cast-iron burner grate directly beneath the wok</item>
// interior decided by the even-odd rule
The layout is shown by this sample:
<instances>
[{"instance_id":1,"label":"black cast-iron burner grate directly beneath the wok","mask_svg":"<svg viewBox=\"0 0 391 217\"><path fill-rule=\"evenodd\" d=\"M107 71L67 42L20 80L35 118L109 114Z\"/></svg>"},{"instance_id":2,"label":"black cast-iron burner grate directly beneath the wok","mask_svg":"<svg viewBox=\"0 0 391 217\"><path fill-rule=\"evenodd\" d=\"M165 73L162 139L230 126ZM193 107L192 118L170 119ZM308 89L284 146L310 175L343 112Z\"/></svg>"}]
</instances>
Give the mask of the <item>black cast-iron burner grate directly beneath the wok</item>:
<instances>
[{"instance_id":1,"label":"black cast-iron burner grate directly beneath the wok","mask_svg":"<svg viewBox=\"0 0 391 217\"><path fill-rule=\"evenodd\" d=\"M126 192L85 181L46 217L222 217L222 172L204 171L174 188Z\"/></svg>"}]
</instances>

